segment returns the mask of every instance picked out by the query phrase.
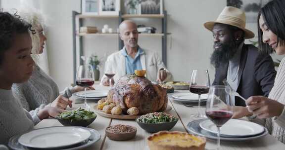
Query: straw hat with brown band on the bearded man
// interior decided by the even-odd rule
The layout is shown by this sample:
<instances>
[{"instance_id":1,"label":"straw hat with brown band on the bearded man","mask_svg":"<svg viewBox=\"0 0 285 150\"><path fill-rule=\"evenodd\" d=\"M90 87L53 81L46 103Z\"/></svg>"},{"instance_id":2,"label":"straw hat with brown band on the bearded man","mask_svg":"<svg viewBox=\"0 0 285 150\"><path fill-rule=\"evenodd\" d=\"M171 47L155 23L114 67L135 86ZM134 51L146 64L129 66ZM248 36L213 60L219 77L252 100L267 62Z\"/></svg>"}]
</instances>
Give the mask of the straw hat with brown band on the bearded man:
<instances>
[{"instance_id":1,"label":"straw hat with brown band on the bearded man","mask_svg":"<svg viewBox=\"0 0 285 150\"><path fill-rule=\"evenodd\" d=\"M244 31L244 38L254 38L254 33L250 30L245 29L245 13L239 8L226 6L216 21L206 22L204 23L204 27L212 31L215 23L238 27Z\"/></svg>"}]
</instances>

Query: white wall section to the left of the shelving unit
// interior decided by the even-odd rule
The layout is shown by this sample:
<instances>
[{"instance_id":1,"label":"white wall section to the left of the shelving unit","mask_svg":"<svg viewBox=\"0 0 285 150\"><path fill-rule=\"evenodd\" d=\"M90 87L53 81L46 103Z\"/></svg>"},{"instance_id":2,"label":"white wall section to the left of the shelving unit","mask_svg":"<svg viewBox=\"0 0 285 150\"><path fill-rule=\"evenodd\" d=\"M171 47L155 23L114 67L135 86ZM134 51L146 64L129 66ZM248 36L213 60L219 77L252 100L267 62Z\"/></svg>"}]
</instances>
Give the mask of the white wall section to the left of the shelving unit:
<instances>
[{"instance_id":1,"label":"white wall section to the left of the shelving unit","mask_svg":"<svg viewBox=\"0 0 285 150\"><path fill-rule=\"evenodd\" d=\"M73 81L71 11L80 11L80 0L1 0L1 7L19 8L21 3L40 9L47 17L49 75L63 90Z\"/></svg>"}]
</instances>

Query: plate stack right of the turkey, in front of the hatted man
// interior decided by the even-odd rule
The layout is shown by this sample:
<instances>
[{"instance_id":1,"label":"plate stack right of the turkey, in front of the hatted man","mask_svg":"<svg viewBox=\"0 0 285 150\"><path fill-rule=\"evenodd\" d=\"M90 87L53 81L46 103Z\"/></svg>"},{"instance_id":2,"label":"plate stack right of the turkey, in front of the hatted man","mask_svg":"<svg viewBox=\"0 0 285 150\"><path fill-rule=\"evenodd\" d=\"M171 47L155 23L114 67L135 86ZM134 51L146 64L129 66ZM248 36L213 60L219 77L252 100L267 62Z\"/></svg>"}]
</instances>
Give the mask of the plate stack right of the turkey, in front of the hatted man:
<instances>
[{"instance_id":1,"label":"plate stack right of the turkey, in front of the hatted man","mask_svg":"<svg viewBox=\"0 0 285 150\"><path fill-rule=\"evenodd\" d=\"M171 95L171 97L174 101L181 102L181 103L197 103L198 100L198 94L193 94L190 92L187 93L176 93ZM202 94L201 95L201 102L206 103L208 98L208 94Z\"/></svg>"}]
</instances>

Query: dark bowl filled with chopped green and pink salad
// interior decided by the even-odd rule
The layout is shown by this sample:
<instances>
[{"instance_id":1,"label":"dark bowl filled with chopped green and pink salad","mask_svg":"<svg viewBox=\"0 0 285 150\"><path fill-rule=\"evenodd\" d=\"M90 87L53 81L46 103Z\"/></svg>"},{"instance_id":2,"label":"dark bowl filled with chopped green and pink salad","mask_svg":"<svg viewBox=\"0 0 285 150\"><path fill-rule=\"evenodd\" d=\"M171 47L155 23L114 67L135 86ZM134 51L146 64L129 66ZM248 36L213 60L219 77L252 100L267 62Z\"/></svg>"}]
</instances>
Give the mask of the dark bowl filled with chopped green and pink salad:
<instances>
[{"instance_id":1,"label":"dark bowl filled with chopped green and pink salad","mask_svg":"<svg viewBox=\"0 0 285 150\"><path fill-rule=\"evenodd\" d=\"M139 126L149 133L172 129L178 121L178 117L165 112L152 112L136 118Z\"/></svg>"}]
</instances>

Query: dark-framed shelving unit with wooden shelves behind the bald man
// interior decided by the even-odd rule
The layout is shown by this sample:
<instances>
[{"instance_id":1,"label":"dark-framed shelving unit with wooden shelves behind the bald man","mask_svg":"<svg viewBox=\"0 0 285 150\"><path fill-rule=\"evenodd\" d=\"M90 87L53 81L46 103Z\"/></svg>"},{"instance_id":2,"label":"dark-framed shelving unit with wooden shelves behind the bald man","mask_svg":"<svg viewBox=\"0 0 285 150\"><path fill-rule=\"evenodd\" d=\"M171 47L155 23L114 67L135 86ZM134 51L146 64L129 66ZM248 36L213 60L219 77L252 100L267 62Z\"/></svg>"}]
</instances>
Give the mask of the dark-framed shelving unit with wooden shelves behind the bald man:
<instances>
[{"instance_id":1,"label":"dark-framed shelving unit with wooden shelves behind the bald man","mask_svg":"<svg viewBox=\"0 0 285 150\"><path fill-rule=\"evenodd\" d=\"M85 36L110 36L110 37L118 37L119 45L118 50L122 49L124 46L123 41L119 38L118 33L112 33L112 34L102 34L102 33L95 33L95 34L87 34L87 33L77 33L79 31L80 27L83 26L83 20L84 19L114 19L118 21L118 25L124 20L124 19L132 19L132 18L153 18L153 19L161 19L161 31L162 33L156 33L156 34L140 34L140 36L143 37L161 37L161 44L162 44L162 61L165 65L167 62L167 11L164 11L163 14L141 14L141 15L133 15L133 14L124 14L122 15L121 12L119 12L119 15L83 15L81 13L78 13L76 11L72 11L72 25L73 25L73 70L74 70L74 76L76 76L76 70L77 70L77 60L80 58L80 56L84 55L83 53L83 37ZM76 22L79 22L78 25L76 25ZM79 49L77 49L77 37L79 37ZM77 56L79 54L79 56ZM79 64L83 64L83 61L79 59ZM75 79L74 79L75 83Z\"/></svg>"}]
</instances>

